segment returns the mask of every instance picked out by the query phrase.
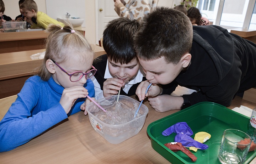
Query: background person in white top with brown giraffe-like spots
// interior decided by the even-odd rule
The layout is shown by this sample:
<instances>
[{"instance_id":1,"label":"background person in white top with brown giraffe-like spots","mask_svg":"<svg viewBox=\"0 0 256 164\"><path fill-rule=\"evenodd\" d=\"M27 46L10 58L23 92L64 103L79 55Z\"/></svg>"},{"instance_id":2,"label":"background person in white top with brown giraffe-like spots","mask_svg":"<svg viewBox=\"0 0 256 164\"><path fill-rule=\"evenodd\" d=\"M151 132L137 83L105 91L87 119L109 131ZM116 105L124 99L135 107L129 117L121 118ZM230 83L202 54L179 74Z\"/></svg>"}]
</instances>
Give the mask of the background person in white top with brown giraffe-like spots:
<instances>
[{"instance_id":1,"label":"background person in white top with brown giraffe-like spots","mask_svg":"<svg viewBox=\"0 0 256 164\"><path fill-rule=\"evenodd\" d=\"M140 20L144 15L153 11L158 0L114 0L114 10L119 17L128 17Z\"/></svg>"}]
</instances>

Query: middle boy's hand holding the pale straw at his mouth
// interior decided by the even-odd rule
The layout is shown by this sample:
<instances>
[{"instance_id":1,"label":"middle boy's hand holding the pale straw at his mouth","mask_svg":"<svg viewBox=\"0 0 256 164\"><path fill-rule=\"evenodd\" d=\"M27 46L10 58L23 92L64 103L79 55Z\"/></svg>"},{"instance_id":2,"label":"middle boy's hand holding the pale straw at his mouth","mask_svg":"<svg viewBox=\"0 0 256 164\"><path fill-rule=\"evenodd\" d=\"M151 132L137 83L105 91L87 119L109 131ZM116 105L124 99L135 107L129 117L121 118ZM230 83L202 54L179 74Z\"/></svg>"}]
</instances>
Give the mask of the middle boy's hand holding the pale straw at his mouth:
<instances>
[{"instance_id":1,"label":"middle boy's hand holding the pale straw at his mouth","mask_svg":"<svg viewBox=\"0 0 256 164\"><path fill-rule=\"evenodd\" d=\"M121 87L124 86L123 80L117 78L109 78L103 83L103 96L112 96L118 94Z\"/></svg>"}]
</instances>

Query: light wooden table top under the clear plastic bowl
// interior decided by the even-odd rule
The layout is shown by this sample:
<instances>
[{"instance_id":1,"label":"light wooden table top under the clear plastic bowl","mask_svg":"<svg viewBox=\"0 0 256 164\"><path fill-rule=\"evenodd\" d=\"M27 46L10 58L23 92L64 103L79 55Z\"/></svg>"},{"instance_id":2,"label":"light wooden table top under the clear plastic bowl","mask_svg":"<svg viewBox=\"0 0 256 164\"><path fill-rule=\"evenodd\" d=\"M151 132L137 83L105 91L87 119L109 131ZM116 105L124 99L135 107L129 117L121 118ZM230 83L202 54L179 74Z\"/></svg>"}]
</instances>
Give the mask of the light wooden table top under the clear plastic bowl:
<instances>
[{"instance_id":1,"label":"light wooden table top under the clear plastic bowl","mask_svg":"<svg viewBox=\"0 0 256 164\"><path fill-rule=\"evenodd\" d=\"M239 97L234 101L231 109L250 104ZM169 163L151 147L146 129L153 121L177 110L159 113L150 107L148 101L144 104L148 106L149 113L142 130L124 142L109 143L92 128L88 115L78 112L25 145L0 153L0 163ZM251 164L255 162L254 159Z\"/></svg>"}]
</instances>

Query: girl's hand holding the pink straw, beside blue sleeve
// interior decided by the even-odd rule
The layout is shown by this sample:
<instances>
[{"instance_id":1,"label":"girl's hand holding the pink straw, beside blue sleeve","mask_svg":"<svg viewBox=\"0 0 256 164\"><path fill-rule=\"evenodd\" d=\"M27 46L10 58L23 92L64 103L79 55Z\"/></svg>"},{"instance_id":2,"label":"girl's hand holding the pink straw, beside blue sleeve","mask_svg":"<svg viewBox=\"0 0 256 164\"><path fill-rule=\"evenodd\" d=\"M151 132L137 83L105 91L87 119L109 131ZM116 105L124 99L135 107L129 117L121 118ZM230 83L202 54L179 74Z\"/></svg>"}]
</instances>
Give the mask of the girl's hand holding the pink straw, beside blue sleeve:
<instances>
[{"instance_id":1,"label":"girl's hand holding the pink straw, beside blue sleeve","mask_svg":"<svg viewBox=\"0 0 256 164\"><path fill-rule=\"evenodd\" d=\"M64 108L66 114L69 113L71 107L78 98L85 98L88 95L87 89L83 86L73 86L65 88L60 98L60 104ZM81 107L80 107L81 108Z\"/></svg>"}]
</instances>

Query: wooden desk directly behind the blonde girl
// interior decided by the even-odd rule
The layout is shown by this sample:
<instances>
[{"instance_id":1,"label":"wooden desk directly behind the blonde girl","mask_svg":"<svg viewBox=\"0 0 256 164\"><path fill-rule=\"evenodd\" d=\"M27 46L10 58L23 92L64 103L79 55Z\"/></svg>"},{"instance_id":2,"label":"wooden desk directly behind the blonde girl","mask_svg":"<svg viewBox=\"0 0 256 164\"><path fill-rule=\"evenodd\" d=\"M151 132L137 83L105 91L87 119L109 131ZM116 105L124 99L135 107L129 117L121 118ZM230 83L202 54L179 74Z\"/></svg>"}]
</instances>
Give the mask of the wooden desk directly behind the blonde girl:
<instances>
[{"instance_id":1,"label":"wooden desk directly behind the blonde girl","mask_svg":"<svg viewBox=\"0 0 256 164\"><path fill-rule=\"evenodd\" d=\"M91 45L95 57L105 54L105 50ZM32 60L31 55L45 49L22 52L0 53L0 98L16 95L31 75L38 73L42 60Z\"/></svg>"}]
</instances>

